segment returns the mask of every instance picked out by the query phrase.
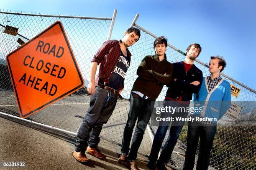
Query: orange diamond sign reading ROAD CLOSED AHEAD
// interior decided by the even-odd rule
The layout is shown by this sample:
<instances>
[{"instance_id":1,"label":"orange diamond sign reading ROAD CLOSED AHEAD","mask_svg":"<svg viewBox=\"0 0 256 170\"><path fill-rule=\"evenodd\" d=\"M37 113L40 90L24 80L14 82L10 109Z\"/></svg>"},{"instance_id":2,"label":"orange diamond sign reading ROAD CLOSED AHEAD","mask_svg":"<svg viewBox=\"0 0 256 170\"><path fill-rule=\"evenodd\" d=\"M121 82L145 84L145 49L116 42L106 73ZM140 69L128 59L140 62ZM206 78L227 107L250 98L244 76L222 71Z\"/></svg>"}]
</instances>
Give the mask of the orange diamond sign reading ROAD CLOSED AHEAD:
<instances>
[{"instance_id":1,"label":"orange diamond sign reading ROAD CLOSED AHEAD","mask_svg":"<svg viewBox=\"0 0 256 170\"><path fill-rule=\"evenodd\" d=\"M60 21L6 57L20 117L28 117L84 86Z\"/></svg>"}]
</instances>

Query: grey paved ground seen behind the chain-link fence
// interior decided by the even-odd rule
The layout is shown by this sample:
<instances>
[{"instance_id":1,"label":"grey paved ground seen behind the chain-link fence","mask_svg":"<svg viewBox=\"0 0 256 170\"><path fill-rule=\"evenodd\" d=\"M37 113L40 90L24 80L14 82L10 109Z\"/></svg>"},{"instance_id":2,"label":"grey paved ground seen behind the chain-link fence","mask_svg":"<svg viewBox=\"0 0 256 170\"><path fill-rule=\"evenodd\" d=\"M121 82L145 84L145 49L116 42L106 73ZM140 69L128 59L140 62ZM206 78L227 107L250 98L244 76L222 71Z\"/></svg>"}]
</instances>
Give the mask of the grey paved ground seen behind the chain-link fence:
<instances>
[{"instance_id":1,"label":"grey paved ground seen behind the chain-link fence","mask_svg":"<svg viewBox=\"0 0 256 170\"><path fill-rule=\"evenodd\" d=\"M19 117L14 93L0 91L0 96L0 111ZM34 115L29 116L28 119L76 133L89 107L89 100L89 96L87 95L67 96L43 110L36 112ZM101 136L108 140L115 141L116 143L122 143L123 130L128 117L128 111L129 101L118 100L110 120L103 126ZM149 155L152 138L152 133L150 129L147 128L139 152ZM120 150L118 153L119 152Z\"/></svg>"}]
</instances>

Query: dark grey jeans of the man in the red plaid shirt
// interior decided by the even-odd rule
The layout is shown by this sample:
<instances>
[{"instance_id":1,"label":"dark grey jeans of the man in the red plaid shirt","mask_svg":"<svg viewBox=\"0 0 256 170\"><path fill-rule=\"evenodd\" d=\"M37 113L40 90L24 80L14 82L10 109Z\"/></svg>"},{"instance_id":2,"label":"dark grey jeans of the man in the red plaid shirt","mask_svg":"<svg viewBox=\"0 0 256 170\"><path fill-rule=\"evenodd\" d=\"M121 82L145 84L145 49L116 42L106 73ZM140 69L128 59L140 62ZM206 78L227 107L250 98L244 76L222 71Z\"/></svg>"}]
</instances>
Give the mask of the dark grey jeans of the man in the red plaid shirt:
<instances>
[{"instance_id":1,"label":"dark grey jeans of the man in the red plaid shirt","mask_svg":"<svg viewBox=\"0 0 256 170\"><path fill-rule=\"evenodd\" d=\"M107 102L109 96L110 100ZM88 145L91 148L97 147L100 142L99 135L102 126L108 122L115 109L116 102L117 95L101 87L96 87L95 93L90 97L90 108L77 130L75 151L84 152Z\"/></svg>"}]
</instances>

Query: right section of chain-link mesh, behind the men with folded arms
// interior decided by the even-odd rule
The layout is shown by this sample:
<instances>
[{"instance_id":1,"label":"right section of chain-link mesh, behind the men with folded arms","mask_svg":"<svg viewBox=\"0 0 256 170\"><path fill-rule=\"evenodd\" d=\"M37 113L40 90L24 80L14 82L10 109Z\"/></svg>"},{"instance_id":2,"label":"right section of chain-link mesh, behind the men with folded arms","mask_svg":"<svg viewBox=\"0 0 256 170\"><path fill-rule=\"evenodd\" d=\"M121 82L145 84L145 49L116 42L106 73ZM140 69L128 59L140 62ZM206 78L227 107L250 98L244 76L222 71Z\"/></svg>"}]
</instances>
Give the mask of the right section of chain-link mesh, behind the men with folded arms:
<instances>
[{"instance_id":1,"label":"right section of chain-link mesh, behind the men with folded arms","mask_svg":"<svg viewBox=\"0 0 256 170\"><path fill-rule=\"evenodd\" d=\"M128 86L127 88L131 90L136 75L132 74L136 72L136 69L145 55L153 55L153 42L155 37L149 35L148 33L142 31L140 40L133 45L131 52L133 54L132 64L128 70L128 75L126 77ZM178 62L184 60L184 55L177 52L176 50L168 47L166 50L167 60L169 62ZM202 56L200 56L202 57ZM210 57L209 57L210 58ZM204 65L195 62L195 65L202 70L203 76L210 75L209 70ZM228 68L226 68L228 69ZM223 76L222 76L223 77ZM247 88L237 84L233 80L223 77L225 80L230 82L231 85L241 89L238 97L232 95L232 102L237 103L242 108L238 120L235 122L229 117L224 116L223 119L225 123L218 123L217 134L215 135L214 146L210 157L210 168L209 169L255 169L255 148L256 148L256 126L255 126L255 100L256 94L248 90ZM129 94L129 90L125 91ZM161 91L157 100L164 100L167 88L164 87ZM127 108L128 110L129 108ZM253 111L254 109L254 111ZM239 120L248 120L251 122L239 122ZM157 130L157 126L152 126L153 134ZM167 132L166 138L168 136ZM166 138L164 142L166 141ZM148 151L146 154L150 153L151 139L145 138L143 140L146 143L146 147L140 148L141 152ZM187 126L184 125L181 135L179 136L178 143L172 154L172 160L178 168L182 168L184 163L184 155L186 151L187 143ZM163 143L164 144L164 143ZM198 150L197 150L198 154Z\"/></svg>"}]
</instances>

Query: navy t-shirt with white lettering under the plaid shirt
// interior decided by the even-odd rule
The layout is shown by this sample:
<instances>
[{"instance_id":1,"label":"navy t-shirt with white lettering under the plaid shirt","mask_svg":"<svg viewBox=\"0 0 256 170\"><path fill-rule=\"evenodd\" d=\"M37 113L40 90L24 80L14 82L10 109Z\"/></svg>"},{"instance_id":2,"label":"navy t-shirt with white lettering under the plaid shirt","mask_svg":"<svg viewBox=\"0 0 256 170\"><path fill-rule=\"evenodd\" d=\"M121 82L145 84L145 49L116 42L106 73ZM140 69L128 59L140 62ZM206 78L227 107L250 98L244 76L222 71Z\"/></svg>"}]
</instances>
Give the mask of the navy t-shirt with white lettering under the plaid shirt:
<instances>
[{"instance_id":1,"label":"navy t-shirt with white lettering under the plaid shirt","mask_svg":"<svg viewBox=\"0 0 256 170\"><path fill-rule=\"evenodd\" d=\"M115 66L115 70L110 76L108 87L118 90L120 85L122 85L124 82L124 78L129 66L130 60L128 56L125 57L121 51L118 64Z\"/></svg>"}]
</instances>

